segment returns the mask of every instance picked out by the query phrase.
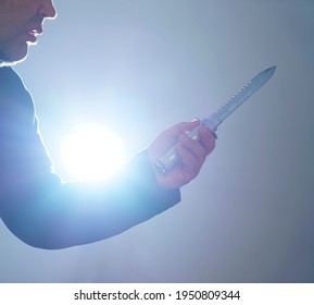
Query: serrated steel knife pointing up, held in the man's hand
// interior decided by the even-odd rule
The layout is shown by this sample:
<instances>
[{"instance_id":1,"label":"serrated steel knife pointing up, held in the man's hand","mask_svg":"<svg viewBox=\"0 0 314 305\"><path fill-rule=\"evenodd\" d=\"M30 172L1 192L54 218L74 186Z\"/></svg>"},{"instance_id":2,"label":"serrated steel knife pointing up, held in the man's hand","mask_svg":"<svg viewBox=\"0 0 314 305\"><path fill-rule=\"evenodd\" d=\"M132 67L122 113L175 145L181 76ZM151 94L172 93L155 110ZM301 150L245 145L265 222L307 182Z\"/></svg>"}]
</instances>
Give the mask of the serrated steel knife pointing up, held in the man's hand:
<instances>
[{"instance_id":1,"label":"serrated steel knife pointing up, held in the man's hand","mask_svg":"<svg viewBox=\"0 0 314 305\"><path fill-rule=\"evenodd\" d=\"M255 91L263 87L275 73L276 65L271 66L263 72L259 73L249 83L247 83L236 95L234 95L225 105L223 105L216 112L212 113L209 118L201 121L208 130L214 133L218 125L228 118L238 107L240 107L248 98ZM194 139L199 139L199 126L187 133L187 135ZM155 161L155 167L159 171L166 174L169 170L180 162L180 158L173 146L165 155Z\"/></svg>"}]
</instances>

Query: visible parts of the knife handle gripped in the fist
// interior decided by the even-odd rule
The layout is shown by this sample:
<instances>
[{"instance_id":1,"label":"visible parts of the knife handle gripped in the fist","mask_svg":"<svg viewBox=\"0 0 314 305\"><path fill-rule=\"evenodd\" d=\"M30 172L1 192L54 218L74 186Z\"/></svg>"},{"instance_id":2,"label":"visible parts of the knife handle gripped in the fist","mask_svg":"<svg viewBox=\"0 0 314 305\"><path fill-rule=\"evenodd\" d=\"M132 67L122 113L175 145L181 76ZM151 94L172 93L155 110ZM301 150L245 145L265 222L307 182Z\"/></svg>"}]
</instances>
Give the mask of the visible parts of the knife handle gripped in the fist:
<instances>
[{"instance_id":1,"label":"visible parts of the knife handle gripped in the fist","mask_svg":"<svg viewBox=\"0 0 314 305\"><path fill-rule=\"evenodd\" d=\"M199 126L193 127L190 132L186 132L186 134L191 139L194 139L194 141L200 139ZM181 159L180 159L175 146L173 146L165 155L163 155L162 157L160 157L155 161L154 166L160 172L166 174L173 168L178 166L180 163L180 161L181 161Z\"/></svg>"}]
</instances>

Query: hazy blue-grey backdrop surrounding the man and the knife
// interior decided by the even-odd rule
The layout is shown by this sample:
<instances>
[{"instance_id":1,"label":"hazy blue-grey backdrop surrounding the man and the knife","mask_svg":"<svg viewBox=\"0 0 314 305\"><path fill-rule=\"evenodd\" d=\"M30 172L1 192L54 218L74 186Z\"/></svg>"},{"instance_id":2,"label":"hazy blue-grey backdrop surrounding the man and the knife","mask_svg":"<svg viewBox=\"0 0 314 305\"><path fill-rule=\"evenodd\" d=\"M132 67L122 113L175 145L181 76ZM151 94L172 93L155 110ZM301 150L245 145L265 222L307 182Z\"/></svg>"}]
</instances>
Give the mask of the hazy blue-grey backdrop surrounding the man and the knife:
<instances>
[{"instance_id":1,"label":"hazy blue-grey backdrop surrounding the man and the knife","mask_svg":"<svg viewBox=\"0 0 314 305\"><path fill-rule=\"evenodd\" d=\"M260 71L271 82L218 130L173 209L118 236L32 248L0 223L1 282L314 282L314 1L55 1L59 17L16 66L41 133L101 122L128 156L221 106Z\"/></svg>"}]
</instances>

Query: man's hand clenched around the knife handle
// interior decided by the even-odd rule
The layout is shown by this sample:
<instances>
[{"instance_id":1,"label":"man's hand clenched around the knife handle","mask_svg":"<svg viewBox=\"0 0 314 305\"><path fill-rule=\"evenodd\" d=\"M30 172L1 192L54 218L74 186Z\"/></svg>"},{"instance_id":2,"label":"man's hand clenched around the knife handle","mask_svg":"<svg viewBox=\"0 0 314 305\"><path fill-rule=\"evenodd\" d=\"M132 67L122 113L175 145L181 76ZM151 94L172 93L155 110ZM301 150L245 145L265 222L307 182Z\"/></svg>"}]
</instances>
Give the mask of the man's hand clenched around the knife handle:
<instances>
[{"instance_id":1,"label":"man's hand clenched around the knife handle","mask_svg":"<svg viewBox=\"0 0 314 305\"><path fill-rule=\"evenodd\" d=\"M199 141L189 138L187 132L198 125L200 125ZM154 162L174 145L180 157L180 163L169 172L162 173L154 167ZM176 188L188 184L199 174L214 147L215 135L200 124L199 120L183 122L164 131L148 147L158 183L165 188Z\"/></svg>"}]
</instances>

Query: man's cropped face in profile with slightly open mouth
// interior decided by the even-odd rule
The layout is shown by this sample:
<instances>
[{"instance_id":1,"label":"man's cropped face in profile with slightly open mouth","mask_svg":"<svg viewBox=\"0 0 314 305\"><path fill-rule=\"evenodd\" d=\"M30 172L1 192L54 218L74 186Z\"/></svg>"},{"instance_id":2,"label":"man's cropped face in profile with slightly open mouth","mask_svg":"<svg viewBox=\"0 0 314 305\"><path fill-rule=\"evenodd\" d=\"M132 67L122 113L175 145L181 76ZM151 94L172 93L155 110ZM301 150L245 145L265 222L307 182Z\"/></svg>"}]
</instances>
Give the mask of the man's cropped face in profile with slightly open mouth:
<instances>
[{"instance_id":1,"label":"man's cropped face in profile with slightly open mouth","mask_svg":"<svg viewBox=\"0 0 314 305\"><path fill-rule=\"evenodd\" d=\"M0 0L0 66L24 60L43 20L55 15L52 0Z\"/></svg>"}]
</instances>

